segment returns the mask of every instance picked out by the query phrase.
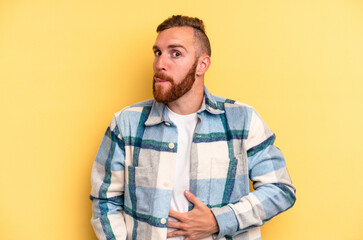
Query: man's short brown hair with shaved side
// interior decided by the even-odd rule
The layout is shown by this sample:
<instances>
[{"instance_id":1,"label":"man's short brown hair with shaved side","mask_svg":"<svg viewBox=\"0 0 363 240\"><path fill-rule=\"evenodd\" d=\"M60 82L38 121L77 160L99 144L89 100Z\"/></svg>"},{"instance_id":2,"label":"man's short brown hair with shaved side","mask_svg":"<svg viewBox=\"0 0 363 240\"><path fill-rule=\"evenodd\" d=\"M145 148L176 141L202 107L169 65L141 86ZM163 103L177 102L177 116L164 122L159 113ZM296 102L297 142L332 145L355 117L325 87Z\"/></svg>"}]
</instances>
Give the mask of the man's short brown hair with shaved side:
<instances>
[{"instance_id":1,"label":"man's short brown hair with shaved side","mask_svg":"<svg viewBox=\"0 0 363 240\"><path fill-rule=\"evenodd\" d=\"M199 18L193 18L182 15L173 15L164 22L162 22L156 29L157 33L160 33L166 29L173 27L192 27L194 29L194 38L199 41L200 54L206 53L208 56L212 55L210 42L205 33L204 23Z\"/></svg>"}]
</instances>

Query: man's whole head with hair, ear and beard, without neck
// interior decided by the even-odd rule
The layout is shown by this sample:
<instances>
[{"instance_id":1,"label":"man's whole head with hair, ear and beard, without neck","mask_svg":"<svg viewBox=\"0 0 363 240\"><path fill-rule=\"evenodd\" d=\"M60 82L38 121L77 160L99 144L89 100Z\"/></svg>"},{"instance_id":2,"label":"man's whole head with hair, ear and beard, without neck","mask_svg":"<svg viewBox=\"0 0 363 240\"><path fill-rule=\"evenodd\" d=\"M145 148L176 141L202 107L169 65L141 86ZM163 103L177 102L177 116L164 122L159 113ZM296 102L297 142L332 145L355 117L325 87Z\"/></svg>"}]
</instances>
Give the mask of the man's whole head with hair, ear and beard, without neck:
<instances>
[{"instance_id":1,"label":"man's whole head with hair, ear and beard, without neck","mask_svg":"<svg viewBox=\"0 0 363 240\"><path fill-rule=\"evenodd\" d=\"M153 93L156 101L170 103L188 93L196 80L202 86L210 64L210 43L198 18L172 16L156 31Z\"/></svg>"}]
</instances>

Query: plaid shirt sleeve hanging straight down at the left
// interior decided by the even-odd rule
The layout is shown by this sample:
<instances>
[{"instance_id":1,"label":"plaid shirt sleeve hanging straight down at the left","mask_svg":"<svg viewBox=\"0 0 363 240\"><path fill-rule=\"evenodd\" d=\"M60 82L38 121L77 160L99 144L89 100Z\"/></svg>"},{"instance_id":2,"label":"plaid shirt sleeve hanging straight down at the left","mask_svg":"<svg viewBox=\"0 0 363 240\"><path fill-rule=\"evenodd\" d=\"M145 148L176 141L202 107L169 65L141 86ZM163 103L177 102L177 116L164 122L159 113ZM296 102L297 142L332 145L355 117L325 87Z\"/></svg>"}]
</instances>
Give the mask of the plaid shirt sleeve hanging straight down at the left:
<instances>
[{"instance_id":1,"label":"plaid shirt sleeve hanging straight down at the left","mask_svg":"<svg viewBox=\"0 0 363 240\"><path fill-rule=\"evenodd\" d=\"M125 144L116 117L106 130L91 174L91 224L98 239L126 239L124 206Z\"/></svg>"}]
</instances>

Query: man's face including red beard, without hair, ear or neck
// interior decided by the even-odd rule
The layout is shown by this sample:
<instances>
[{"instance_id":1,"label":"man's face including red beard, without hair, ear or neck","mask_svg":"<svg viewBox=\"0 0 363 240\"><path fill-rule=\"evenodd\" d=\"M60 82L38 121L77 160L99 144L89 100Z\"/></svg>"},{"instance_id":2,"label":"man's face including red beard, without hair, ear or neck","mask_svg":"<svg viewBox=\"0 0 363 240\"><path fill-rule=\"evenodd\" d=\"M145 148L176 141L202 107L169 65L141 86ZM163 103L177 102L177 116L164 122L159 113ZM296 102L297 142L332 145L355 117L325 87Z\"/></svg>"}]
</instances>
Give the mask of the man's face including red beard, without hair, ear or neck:
<instances>
[{"instance_id":1,"label":"man's face including red beard, without hair, ear or neck","mask_svg":"<svg viewBox=\"0 0 363 240\"><path fill-rule=\"evenodd\" d=\"M174 27L159 33L153 47L153 93L158 102L170 103L193 86L198 61L191 27Z\"/></svg>"}]
</instances>

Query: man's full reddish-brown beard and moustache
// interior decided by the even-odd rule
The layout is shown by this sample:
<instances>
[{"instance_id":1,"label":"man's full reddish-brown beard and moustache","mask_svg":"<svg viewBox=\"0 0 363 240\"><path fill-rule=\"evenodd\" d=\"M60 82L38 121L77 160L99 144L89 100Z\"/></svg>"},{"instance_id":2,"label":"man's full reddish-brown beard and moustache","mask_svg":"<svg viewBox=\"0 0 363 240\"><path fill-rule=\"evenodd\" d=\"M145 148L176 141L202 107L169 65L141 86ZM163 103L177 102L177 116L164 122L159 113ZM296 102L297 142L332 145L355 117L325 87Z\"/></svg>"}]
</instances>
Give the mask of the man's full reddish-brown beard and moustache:
<instances>
[{"instance_id":1,"label":"man's full reddish-brown beard and moustache","mask_svg":"<svg viewBox=\"0 0 363 240\"><path fill-rule=\"evenodd\" d=\"M157 102L161 102L164 104L174 102L192 88L195 82L195 73L197 71L198 61L196 60L193 66L189 69L189 72L184 77L184 79L176 84L174 79L166 76L163 73L155 73L154 77L161 78L163 80L168 81L171 84L171 87L165 91L163 91L162 86L157 86L155 84L155 80L153 80L153 94L154 98ZM164 83L163 83L164 84Z\"/></svg>"}]
</instances>

